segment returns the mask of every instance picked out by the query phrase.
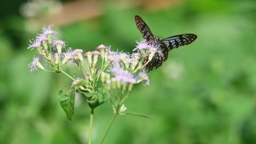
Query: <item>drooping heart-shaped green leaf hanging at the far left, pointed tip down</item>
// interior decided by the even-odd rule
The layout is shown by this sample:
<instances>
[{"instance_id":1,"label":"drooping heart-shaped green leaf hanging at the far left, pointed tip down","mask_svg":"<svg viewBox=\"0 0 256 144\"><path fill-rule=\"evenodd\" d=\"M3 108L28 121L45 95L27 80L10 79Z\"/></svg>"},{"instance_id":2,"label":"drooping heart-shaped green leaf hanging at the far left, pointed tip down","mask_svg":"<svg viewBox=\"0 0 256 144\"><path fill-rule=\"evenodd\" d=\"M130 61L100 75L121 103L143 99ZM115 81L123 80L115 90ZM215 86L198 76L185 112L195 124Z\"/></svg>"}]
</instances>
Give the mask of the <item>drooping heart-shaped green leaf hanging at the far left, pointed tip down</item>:
<instances>
[{"instance_id":1,"label":"drooping heart-shaped green leaf hanging at the far left, pointed tip down","mask_svg":"<svg viewBox=\"0 0 256 144\"><path fill-rule=\"evenodd\" d=\"M62 89L59 91L59 101L62 109L66 112L69 121L72 121L74 114L75 89L69 93L64 93Z\"/></svg>"}]
</instances>

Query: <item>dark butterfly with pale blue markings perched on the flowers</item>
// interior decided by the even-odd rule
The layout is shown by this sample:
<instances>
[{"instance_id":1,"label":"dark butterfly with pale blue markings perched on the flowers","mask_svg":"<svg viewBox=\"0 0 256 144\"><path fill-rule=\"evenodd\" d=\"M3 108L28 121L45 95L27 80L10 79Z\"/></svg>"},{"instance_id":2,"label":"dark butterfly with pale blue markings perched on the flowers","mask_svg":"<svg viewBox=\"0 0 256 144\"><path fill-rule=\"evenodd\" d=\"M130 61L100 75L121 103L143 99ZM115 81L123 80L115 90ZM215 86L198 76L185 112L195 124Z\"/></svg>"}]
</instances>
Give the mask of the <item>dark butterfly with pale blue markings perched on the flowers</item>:
<instances>
[{"instance_id":1,"label":"dark butterfly with pale blue markings perched on the flowers","mask_svg":"<svg viewBox=\"0 0 256 144\"><path fill-rule=\"evenodd\" d=\"M161 51L161 53L156 52L155 56L152 58L152 61L146 65L146 69L148 71L153 70L153 68L157 69L160 67L162 63L167 60L168 52L170 50L178 48L182 45L189 45L197 38L195 34L187 33L174 35L172 37L160 40L159 37L153 35L146 22L140 16L135 16L135 22L144 39L146 39L149 43L160 45L158 51ZM148 58L146 58L145 62L148 62Z\"/></svg>"}]
</instances>

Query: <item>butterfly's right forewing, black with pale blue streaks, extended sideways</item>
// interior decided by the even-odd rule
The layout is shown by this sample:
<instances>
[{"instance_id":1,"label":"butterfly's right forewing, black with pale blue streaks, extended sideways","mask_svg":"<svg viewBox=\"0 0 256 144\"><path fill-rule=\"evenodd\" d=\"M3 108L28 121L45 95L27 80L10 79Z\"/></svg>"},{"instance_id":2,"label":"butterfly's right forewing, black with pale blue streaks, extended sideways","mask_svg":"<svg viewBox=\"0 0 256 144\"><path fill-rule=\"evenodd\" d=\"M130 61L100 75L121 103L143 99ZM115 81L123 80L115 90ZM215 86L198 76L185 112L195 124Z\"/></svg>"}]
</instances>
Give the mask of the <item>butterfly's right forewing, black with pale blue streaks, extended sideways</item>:
<instances>
[{"instance_id":1,"label":"butterfly's right forewing, black with pale blue streaks, extended sideways","mask_svg":"<svg viewBox=\"0 0 256 144\"><path fill-rule=\"evenodd\" d=\"M180 35L174 35L172 37L163 39L162 42L165 43L166 47L168 48L168 51L178 48L182 45L189 45L191 44L197 36L195 34L180 34Z\"/></svg>"}]
</instances>

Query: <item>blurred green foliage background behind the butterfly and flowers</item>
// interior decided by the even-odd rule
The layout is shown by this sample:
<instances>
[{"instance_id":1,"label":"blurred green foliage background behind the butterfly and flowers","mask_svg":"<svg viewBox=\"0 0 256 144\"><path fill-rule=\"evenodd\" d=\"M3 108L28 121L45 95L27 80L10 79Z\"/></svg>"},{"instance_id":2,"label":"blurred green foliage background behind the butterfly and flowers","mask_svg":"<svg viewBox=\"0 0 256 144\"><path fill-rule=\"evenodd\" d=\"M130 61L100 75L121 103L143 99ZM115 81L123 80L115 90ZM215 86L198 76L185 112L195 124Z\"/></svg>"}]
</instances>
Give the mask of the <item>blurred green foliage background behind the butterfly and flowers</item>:
<instances>
[{"instance_id":1,"label":"blurred green foliage background behind the butterfly and flowers","mask_svg":"<svg viewBox=\"0 0 256 144\"><path fill-rule=\"evenodd\" d=\"M142 35L141 16L162 38L194 33L197 40L169 52L137 85L129 111L119 116L105 143L256 143L256 1L43 1L1 2L0 143L87 143L90 109L77 95L73 121L57 99L71 81L27 68L27 50L44 25L53 24L73 49L111 45L132 52ZM92 143L100 143L113 116L106 103L95 110Z\"/></svg>"}]
</instances>

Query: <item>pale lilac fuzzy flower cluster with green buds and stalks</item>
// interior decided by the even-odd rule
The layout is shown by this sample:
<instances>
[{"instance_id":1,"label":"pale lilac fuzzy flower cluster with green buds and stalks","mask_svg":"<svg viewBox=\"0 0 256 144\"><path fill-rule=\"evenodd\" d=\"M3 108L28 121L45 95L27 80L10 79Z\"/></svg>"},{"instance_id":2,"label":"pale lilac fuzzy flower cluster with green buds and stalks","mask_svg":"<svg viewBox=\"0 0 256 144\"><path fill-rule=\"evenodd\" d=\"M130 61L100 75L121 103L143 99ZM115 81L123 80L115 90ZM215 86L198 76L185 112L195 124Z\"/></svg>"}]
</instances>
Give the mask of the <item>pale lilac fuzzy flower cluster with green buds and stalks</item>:
<instances>
[{"instance_id":1,"label":"pale lilac fuzzy flower cluster with green buds and stalks","mask_svg":"<svg viewBox=\"0 0 256 144\"><path fill-rule=\"evenodd\" d=\"M122 109L120 108L131 92L133 85L141 82L144 85L149 85L146 67L156 52L161 53L158 51L159 45L152 45L146 40L141 40L136 41L137 46L131 54L112 51L110 46L104 45L98 46L95 51L83 53L81 49L66 48L66 42L57 39L57 32L51 28L52 26L43 27L42 33L36 39L30 40L31 44L28 49L36 49L38 53L38 56L34 57L28 65L31 72L41 69L63 73L73 80L71 87L78 88L81 93L89 95L90 99L91 95L97 95L93 93L97 92L96 86L101 78L108 98L112 101L114 111L119 110L119 113L126 110L124 106ZM42 61L45 61L46 64L42 65ZM77 65L82 75L70 76L63 71L63 65L71 63ZM51 69L47 70L46 66L51 67Z\"/></svg>"}]
</instances>

